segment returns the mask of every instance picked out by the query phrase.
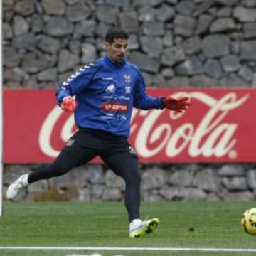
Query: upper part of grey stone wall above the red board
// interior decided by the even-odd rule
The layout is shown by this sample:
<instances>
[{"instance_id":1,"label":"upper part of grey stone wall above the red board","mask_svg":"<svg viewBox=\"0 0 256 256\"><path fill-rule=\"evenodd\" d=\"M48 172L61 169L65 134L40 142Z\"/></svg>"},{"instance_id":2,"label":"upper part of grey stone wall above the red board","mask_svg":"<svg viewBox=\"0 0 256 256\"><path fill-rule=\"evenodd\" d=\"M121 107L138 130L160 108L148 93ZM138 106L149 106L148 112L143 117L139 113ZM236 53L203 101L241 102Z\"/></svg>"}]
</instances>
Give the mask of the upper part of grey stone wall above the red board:
<instances>
[{"instance_id":1,"label":"upper part of grey stone wall above the red board","mask_svg":"<svg viewBox=\"0 0 256 256\"><path fill-rule=\"evenodd\" d=\"M5 87L56 87L119 25L147 85L256 86L254 0L4 0Z\"/></svg>"}]
</instances>

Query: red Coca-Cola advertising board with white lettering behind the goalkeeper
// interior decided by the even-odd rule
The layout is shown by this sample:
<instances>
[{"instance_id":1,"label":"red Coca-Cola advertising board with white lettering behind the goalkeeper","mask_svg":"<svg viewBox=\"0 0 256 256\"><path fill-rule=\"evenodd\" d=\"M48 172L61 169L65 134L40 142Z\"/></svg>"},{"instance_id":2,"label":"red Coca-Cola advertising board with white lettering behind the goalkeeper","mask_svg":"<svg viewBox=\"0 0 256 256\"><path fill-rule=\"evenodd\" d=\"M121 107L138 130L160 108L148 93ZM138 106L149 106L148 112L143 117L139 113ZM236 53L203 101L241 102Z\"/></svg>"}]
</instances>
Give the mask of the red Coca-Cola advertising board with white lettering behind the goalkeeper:
<instances>
[{"instance_id":1,"label":"red Coca-Cola advertising board with white lettering behind the goalkeeper","mask_svg":"<svg viewBox=\"0 0 256 256\"><path fill-rule=\"evenodd\" d=\"M129 142L142 163L256 161L256 90L149 89L188 95L184 113L133 110ZM4 163L51 162L75 132L55 90L4 90ZM94 159L93 162L99 162Z\"/></svg>"}]
</instances>

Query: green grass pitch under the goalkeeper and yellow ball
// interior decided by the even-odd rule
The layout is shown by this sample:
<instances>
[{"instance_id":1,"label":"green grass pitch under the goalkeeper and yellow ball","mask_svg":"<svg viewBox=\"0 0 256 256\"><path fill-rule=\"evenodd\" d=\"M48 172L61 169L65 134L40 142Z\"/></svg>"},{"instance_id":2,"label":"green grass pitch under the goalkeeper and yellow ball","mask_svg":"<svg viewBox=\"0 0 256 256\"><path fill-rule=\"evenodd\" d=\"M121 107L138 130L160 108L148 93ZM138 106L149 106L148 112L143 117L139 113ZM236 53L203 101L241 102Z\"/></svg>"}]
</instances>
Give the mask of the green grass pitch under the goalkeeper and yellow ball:
<instances>
[{"instance_id":1,"label":"green grass pitch under the goalkeeper and yellow ball","mask_svg":"<svg viewBox=\"0 0 256 256\"><path fill-rule=\"evenodd\" d=\"M256 236L241 226L242 213L255 202L142 203L142 218L157 217L159 228L143 238L128 237L123 202L4 202L0 247L203 247L256 248ZM256 252L142 252L102 250L0 250L0 255L256 255Z\"/></svg>"}]
</instances>

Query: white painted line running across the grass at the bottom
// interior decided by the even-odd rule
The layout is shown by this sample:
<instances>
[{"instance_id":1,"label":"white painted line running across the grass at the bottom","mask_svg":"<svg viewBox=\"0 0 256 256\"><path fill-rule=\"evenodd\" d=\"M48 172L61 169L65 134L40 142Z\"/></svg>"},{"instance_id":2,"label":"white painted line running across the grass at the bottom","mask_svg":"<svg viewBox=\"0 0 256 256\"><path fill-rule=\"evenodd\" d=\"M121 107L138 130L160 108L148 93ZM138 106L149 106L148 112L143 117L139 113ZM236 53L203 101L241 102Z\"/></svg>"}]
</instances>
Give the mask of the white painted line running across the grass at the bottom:
<instances>
[{"instance_id":1,"label":"white painted line running across the grass at the bottom","mask_svg":"<svg viewBox=\"0 0 256 256\"><path fill-rule=\"evenodd\" d=\"M50 246L0 246L0 250L144 250L144 251L198 251L198 252L256 252L255 249L243 248L193 248L193 247L50 247Z\"/></svg>"}]
</instances>

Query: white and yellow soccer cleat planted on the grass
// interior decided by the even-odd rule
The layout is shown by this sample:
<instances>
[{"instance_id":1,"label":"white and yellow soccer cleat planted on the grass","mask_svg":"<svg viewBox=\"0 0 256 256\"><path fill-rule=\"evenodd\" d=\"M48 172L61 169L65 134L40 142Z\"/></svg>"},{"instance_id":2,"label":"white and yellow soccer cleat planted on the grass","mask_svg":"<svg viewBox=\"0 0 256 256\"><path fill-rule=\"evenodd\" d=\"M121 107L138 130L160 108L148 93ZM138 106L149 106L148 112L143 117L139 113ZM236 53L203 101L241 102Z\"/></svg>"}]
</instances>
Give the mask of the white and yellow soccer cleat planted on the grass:
<instances>
[{"instance_id":1,"label":"white and yellow soccer cleat planted on the grass","mask_svg":"<svg viewBox=\"0 0 256 256\"><path fill-rule=\"evenodd\" d=\"M139 238L143 235L149 234L156 230L157 225L159 225L159 219L153 218L151 220L132 220L129 224L129 237L130 238Z\"/></svg>"}]
</instances>

